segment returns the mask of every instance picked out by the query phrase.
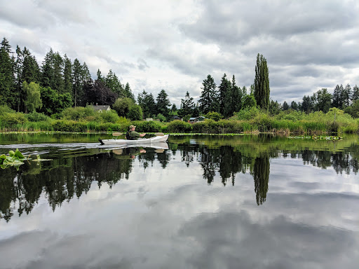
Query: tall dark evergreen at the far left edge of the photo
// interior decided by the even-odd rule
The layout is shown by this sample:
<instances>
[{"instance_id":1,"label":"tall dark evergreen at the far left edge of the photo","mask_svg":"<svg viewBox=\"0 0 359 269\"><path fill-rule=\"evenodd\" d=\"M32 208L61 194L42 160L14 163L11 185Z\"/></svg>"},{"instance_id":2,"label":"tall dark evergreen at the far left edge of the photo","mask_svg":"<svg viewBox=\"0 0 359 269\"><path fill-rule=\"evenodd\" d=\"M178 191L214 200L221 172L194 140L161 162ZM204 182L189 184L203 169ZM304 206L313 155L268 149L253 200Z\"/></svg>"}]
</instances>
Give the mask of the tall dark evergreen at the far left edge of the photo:
<instances>
[{"instance_id":1,"label":"tall dark evergreen at the far left edge of the photo","mask_svg":"<svg viewBox=\"0 0 359 269\"><path fill-rule=\"evenodd\" d=\"M14 59L11 55L11 46L6 38L1 41L0 47L0 105L17 108L15 95Z\"/></svg>"}]
</instances>

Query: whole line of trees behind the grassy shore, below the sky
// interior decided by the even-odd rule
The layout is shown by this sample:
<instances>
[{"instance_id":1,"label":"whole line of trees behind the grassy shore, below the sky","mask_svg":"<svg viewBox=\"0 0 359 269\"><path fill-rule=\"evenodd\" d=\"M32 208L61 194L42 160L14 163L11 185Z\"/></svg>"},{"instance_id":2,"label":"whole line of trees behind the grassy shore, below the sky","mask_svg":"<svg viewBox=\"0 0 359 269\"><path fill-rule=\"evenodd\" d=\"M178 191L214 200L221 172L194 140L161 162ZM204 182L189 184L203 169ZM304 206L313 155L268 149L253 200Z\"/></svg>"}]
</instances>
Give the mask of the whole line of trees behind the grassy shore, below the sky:
<instances>
[{"instance_id":1,"label":"whole line of trees behind the grassy shore, below the sky","mask_svg":"<svg viewBox=\"0 0 359 269\"><path fill-rule=\"evenodd\" d=\"M196 116L208 118L229 118L233 113L257 106L272 115L292 109L294 111L327 112L332 107L343 109L351 116L359 117L359 89L355 85L337 85L331 94L326 88L312 96L304 95L302 102L292 101L283 104L270 98L269 69L263 55L257 55L254 83L247 89L236 84L233 75L222 76L216 85L210 74L203 80L198 102L187 91L181 99L180 107L170 103L167 92L161 90L156 97L142 90L137 98L129 83L123 84L110 69L107 76L97 69L93 80L86 62L67 55L60 55L52 49L46 54L42 65L25 47L16 47L15 52L6 38L0 48L0 105L9 106L15 111L40 112L45 115L58 115L68 107L87 104L110 105L118 116L141 120L158 118L170 120L173 116L184 119Z\"/></svg>"}]
</instances>

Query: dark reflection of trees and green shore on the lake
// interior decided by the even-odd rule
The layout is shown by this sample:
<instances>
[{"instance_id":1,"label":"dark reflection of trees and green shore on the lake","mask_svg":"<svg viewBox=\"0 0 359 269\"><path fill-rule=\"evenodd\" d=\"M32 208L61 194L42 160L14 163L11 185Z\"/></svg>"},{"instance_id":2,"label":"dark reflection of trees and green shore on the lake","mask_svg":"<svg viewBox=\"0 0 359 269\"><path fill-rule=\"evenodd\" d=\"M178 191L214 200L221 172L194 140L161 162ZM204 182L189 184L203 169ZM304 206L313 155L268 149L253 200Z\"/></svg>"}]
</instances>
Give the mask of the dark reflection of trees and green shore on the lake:
<instances>
[{"instance_id":1,"label":"dark reflection of trees and green shore on the lake","mask_svg":"<svg viewBox=\"0 0 359 269\"><path fill-rule=\"evenodd\" d=\"M180 156L184 167L199 165L207 184L213 184L219 178L223 186L235 186L238 174L250 174L257 205L262 205L269 191L270 160L273 158L302 158L304 165L322 169L333 167L339 174L358 172L358 144L337 144L336 151L328 149L332 144L323 145L287 142L263 135L241 139L173 137L170 149L48 147L42 150L46 158L53 158L52 161L27 162L18 171L13 168L0 170L0 218L9 221L15 212L19 216L24 212L29 214L43 194L55 211L63 202L86 194L94 182L98 188L104 183L111 188L118 181L129 179L135 161L144 171L155 163L167 169L176 156ZM181 175L173 177L179 180Z\"/></svg>"}]
</instances>

